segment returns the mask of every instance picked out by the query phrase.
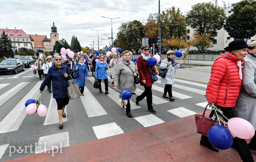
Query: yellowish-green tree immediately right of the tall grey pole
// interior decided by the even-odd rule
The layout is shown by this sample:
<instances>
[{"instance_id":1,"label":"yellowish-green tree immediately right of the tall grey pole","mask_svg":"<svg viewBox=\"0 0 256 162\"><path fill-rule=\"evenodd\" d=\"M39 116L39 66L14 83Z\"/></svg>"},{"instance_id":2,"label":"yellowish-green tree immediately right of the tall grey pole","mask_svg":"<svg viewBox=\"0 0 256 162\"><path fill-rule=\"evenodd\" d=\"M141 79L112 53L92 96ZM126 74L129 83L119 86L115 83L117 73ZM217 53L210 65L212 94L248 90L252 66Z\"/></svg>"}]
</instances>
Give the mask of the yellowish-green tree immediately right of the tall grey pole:
<instances>
[{"instance_id":1,"label":"yellowish-green tree immediately right of the tall grey pole","mask_svg":"<svg viewBox=\"0 0 256 162\"><path fill-rule=\"evenodd\" d=\"M172 6L162 11L161 14L162 38L185 38L187 36L187 23L185 16L180 12L180 8Z\"/></svg>"}]
</instances>

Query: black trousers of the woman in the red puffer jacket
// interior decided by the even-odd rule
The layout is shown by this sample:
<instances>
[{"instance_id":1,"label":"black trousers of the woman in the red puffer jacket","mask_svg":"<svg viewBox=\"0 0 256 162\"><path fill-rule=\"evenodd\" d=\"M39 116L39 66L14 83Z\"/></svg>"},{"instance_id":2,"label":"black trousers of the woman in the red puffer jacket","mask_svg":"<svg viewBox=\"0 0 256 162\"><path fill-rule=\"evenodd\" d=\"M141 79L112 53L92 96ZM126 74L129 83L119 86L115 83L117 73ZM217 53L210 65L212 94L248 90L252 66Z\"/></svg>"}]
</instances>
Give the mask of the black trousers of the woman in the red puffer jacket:
<instances>
[{"instance_id":1,"label":"black trousers of the woman in the red puffer jacket","mask_svg":"<svg viewBox=\"0 0 256 162\"><path fill-rule=\"evenodd\" d=\"M232 117L236 117L232 108L227 108L227 107L220 107L218 106L218 108L220 108L220 110L223 112L223 115L226 116L228 119L232 118ZM210 117L212 117L212 115L214 114L214 110L212 110ZM218 114L219 115L219 114ZM226 122L227 119L224 117L224 120ZM202 135L201 139L205 142L210 144L210 141L208 139L208 137ZM234 149L236 149L236 151L238 152L238 154L240 155L241 159L245 162L253 162L253 158L252 158L252 153L249 149L249 146L247 144L247 142L245 141L245 139L241 139L238 137L233 138L233 144L232 146Z\"/></svg>"}]
</instances>

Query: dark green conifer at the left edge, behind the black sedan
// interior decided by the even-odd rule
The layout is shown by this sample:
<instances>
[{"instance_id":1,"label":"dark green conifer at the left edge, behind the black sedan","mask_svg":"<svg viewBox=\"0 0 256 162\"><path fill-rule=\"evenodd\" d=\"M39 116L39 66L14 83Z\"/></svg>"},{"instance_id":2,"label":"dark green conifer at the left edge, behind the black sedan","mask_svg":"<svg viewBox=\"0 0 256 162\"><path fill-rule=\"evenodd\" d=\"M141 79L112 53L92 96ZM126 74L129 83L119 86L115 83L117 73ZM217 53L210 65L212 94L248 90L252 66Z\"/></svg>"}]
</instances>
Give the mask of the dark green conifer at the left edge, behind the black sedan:
<instances>
[{"instance_id":1,"label":"dark green conifer at the left edge, behind the black sedan","mask_svg":"<svg viewBox=\"0 0 256 162\"><path fill-rule=\"evenodd\" d=\"M0 37L0 58L3 57L13 57L13 51L12 51L12 41L9 40L8 35L3 33Z\"/></svg>"}]
</instances>

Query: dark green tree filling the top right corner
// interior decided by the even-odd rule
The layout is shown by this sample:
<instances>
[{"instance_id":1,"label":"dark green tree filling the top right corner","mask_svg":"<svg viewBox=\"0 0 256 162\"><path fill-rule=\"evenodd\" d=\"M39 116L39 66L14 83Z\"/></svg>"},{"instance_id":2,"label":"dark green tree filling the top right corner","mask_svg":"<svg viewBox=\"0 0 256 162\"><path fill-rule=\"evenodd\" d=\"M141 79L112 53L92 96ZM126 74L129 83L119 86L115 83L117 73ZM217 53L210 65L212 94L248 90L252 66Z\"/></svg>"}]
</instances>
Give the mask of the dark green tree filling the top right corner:
<instances>
[{"instance_id":1,"label":"dark green tree filling the top right corner","mask_svg":"<svg viewBox=\"0 0 256 162\"><path fill-rule=\"evenodd\" d=\"M256 1L243 0L231 9L224 29L236 39L253 37L256 34Z\"/></svg>"}]
</instances>

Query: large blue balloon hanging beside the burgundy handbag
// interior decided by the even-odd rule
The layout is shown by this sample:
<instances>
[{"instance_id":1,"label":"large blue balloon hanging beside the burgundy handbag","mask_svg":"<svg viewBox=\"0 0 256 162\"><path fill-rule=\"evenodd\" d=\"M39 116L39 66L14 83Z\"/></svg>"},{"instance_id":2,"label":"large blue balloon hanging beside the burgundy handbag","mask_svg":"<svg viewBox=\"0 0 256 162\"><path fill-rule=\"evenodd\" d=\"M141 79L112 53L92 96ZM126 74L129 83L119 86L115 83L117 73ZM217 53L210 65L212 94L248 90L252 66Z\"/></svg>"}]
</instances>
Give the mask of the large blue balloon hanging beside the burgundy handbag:
<instances>
[{"instance_id":1,"label":"large blue balloon hanging beside the burgundy handbag","mask_svg":"<svg viewBox=\"0 0 256 162\"><path fill-rule=\"evenodd\" d=\"M229 149L233 144L233 137L223 125L214 125L208 131L208 139L211 144L221 150Z\"/></svg>"}]
</instances>

